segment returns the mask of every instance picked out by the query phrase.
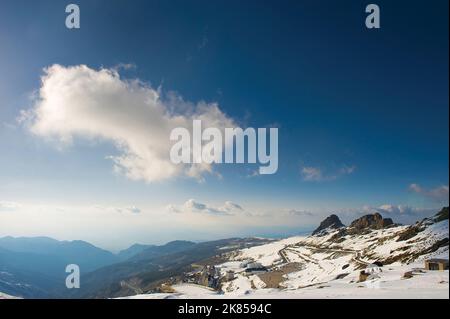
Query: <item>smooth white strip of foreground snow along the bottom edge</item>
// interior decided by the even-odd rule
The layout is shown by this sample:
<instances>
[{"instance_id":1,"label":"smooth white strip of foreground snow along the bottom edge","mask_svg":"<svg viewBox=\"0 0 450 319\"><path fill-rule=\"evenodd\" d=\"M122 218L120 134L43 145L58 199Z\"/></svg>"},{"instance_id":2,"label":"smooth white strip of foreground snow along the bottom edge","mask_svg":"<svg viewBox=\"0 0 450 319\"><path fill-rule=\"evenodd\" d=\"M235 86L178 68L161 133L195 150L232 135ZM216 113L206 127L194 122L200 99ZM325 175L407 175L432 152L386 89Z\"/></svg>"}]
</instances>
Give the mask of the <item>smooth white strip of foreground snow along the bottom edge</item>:
<instances>
[{"instance_id":1,"label":"smooth white strip of foreground snow along the bottom edge","mask_svg":"<svg viewBox=\"0 0 450 319\"><path fill-rule=\"evenodd\" d=\"M126 299L448 299L448 271L416 273L411 279L402 276L409 266L387 268L380 277L366 283L333 280L302 289L251 288L246 278L237 279L241 289L232 293L214 292L205 287L180 284L175 293L143 294Z\"/></svg>"}]
</instances>

